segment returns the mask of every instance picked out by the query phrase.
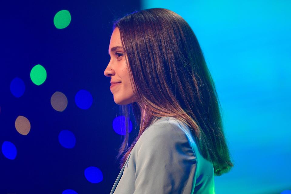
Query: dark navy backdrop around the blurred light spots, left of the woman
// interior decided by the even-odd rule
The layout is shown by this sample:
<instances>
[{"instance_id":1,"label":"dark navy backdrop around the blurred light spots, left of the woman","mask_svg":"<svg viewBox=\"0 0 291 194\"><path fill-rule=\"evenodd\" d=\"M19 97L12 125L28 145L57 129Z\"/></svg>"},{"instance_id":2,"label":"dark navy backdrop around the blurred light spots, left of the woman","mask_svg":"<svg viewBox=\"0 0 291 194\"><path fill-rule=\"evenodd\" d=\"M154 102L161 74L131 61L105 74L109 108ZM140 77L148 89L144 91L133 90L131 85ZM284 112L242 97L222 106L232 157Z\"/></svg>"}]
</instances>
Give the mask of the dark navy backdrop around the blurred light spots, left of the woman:
<instances>
[{"instance_id":1,"label":"dark navy backdrop around the blurred light spots, left of the woman","mask_svg":"<svg viewBox=\"0 0 291 194\"><path fill-rule=\"evenodd\" d=\"M12 142L17 155L8 159L0 153L0 193L110 192L119 173L115 156L122 136L112 129L119 106L103 72L109 62L113 19L139 7L139 1L129 0L1 2L0 145ZM63 29L53 23L60 10L68 10L72 17ZM42 85L30 79L37 64L47 72ZM19 98L9 88L15 77L25 83ZM85 110L75 103L82 89L93 97ZM63 112L50 103L56 91L68 99ZM19 115L31 124L27 135L15 129ZM62 130L73 132L74 148L61 146ZM134 129L130 142L136 133ZM86 179L84 172L90 166L101 170L101 182Z\"/></svg>"}]
</instances>

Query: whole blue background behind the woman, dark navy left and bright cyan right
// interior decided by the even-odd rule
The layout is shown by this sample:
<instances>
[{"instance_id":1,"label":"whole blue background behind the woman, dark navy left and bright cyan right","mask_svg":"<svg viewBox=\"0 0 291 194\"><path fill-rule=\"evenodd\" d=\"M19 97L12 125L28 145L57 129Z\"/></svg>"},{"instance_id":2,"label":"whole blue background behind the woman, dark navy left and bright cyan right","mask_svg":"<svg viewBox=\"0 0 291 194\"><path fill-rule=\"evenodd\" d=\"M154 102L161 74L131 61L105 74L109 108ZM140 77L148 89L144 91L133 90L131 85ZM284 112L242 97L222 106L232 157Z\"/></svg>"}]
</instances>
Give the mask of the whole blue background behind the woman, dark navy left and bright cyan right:
<instances>
[{"instance_id":1,"label":"whole blue background behind the woman, dark navy left and bright cyan right","mask_svg":"<svg viewBox=\"0 0 291 194\"><path fill-rule=\"evenodd\" d=\"M119 106L103 74L112 21L154 7L190 24L215 81L235 165L215 177L216 193L291 189L290 1L19 1L0 7L0 145L17 149L15 159L0 154L0 193L110 192L122 142L113 125ZM72 20L57 29L53 18L63 9ZM39 86L29 77L37 64L47 71ZM25 84L19 98L10 90L16 77ZM92 95L88 109L75 102L80 90ZM56 91L68 99L63 112L50 104ZM28 135L15 129L19 115L30 121ZM65 130L75 138L70 149L59 139ZM132 128L130 143L137 133Z\"/></svg>"}]
</instances>

